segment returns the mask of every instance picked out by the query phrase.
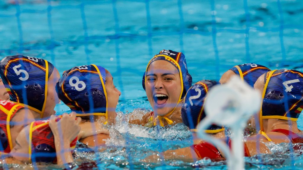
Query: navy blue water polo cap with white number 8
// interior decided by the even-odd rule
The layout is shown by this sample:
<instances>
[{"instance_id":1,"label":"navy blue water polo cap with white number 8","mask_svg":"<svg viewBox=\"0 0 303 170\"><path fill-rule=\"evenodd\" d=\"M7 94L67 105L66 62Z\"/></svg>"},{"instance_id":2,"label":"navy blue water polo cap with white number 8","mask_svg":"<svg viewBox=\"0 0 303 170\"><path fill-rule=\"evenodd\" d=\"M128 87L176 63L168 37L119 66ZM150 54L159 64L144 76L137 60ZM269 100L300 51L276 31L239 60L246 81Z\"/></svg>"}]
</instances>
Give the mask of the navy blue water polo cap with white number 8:
<instances>
[{"instance_id":1,"label":"navy blue water polo cap with white number 8","mask_svg":"<svg viewBox=\"0 0 303 170\"><path fill-rule=\"evenodd\" d=\"M73 67L66 70L56 91L77 116L105 116L107 119L107 94L105 90L105 68L95 64Z\"/></svg>"}]
</instances>

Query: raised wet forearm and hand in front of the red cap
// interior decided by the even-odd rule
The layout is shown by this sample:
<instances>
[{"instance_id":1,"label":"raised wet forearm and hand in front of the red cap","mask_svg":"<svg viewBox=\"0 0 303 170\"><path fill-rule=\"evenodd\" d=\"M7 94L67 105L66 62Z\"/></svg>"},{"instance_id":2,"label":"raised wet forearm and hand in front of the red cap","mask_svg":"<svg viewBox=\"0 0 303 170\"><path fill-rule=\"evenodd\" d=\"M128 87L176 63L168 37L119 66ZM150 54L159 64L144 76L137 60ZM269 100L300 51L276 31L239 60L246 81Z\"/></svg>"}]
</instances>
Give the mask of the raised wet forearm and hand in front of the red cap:
<instances>
[{"instance_id":1,"label":"raised wet forearm and hand in front of the red cap","mask_svg":"<svg viewBox=\"0 0 303 170\"><path fill-rule=\"evenodd\" d=\"M77 137L80 132L79 123L81 118L76 118L75 113L63 114L62 118L56 122L56 117L51 116L49 127L55 139L55 149L57 154L57 164L73 162L73 156L70 149L70 143Z\"/></svg>"}]
</instances>

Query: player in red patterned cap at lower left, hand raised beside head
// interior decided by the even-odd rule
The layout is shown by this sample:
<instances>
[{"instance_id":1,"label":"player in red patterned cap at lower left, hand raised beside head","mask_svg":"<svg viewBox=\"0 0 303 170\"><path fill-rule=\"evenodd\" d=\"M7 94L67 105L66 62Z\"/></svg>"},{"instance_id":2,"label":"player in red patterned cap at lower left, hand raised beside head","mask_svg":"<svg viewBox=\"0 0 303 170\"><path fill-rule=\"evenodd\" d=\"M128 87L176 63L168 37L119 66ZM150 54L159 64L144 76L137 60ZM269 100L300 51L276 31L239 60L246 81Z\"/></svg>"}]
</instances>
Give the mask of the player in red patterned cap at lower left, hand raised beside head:
<instances>
[{"instance_id":1,"label":"player in red patterned cap at lower left, hand raised beside head","mask_svg":"<svg viewBox=\"0 0 303 170\"><path fill-rule=\"evenodd\" d=\"M73 162L72 150L77 142L81 118L75 113L51 116L26 126L16 138L16 145L10 152L13 159L25 162L51 162L62 165Z\"/></svg>"}]
</instances>

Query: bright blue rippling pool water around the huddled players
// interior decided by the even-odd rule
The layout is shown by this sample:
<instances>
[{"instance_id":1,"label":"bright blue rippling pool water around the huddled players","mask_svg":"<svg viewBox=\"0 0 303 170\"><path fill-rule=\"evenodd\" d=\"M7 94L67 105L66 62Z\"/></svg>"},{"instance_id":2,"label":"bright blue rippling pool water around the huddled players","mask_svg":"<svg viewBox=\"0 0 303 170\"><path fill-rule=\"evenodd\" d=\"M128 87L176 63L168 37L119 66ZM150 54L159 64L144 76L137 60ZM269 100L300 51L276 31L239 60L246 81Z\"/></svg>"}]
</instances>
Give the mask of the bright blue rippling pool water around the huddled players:
<instances>
[{"instance_id":1,"label":"bright blue rippling pool water around the huddled players","mask_svg":"<svg viewBox=\"0 0 303 170\"><path fill-rule=\"evenodd\" d=\"M115 138L112 130L111 147L96 154L79 152L79 164L86 158L108 169L226 169L226 162L209 160L140 161L152 152L191 144L184 125L148 129L126 123L134 109L134 114L137 108L151 109L141 84L147 62L162 49L182 51L194 82L218 80L242 63L300 70L302 18L301 0L3 0L0 56L42 57L60 73L97 64L115 77L122 92L115 128L122 136ZM55 109L69 111L63 104ZM303 129L301 117L298 122ZM302 156L282 148L288 147L271 146L273 155L246 158L246 168L301 169Z\"/></svg>"}]
</instances>

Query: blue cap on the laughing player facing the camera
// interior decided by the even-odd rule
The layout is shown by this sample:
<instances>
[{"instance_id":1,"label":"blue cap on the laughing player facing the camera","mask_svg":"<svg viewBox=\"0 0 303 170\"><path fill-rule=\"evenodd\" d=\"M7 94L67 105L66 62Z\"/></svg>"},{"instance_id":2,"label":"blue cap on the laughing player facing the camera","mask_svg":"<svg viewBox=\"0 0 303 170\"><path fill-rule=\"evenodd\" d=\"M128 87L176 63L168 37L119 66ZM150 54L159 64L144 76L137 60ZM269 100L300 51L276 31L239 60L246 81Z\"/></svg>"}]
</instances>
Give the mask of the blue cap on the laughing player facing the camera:
<instances>
[{"instance_id":1,"label":"blue cap on the laughing player facing the camera","mask_svg":"<svg viewBox=\"0 0 303 170\"><path fill-rule=\"evenodd\" d=\"M143 74L142 87L145 90L145 80L146 80L146 71L149 65L156 60L165 60L174 65L180 74L180 79L182 83L182 94L181 99L185 96L187 90L191 87L192 78L188 73L185 55L181 52L175 52L171 50L162 50L159 54L155 55L147 64L146 70Z\"/></svg>"}]
</instances>

